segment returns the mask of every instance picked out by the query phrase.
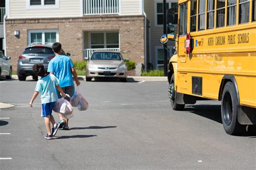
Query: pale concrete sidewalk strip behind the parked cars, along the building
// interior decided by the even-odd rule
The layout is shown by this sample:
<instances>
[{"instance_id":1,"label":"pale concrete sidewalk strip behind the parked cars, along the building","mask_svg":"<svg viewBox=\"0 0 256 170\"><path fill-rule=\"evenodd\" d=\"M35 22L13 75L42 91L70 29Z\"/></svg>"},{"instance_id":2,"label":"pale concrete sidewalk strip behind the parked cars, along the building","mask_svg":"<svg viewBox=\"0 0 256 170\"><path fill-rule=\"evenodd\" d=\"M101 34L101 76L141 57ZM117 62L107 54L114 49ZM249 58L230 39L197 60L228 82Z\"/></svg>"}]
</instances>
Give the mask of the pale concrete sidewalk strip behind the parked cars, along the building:
<instances>
[{"instance_id":1,"label":"pale concrete sidewalk strip behind the parked cars, along the building","mask_svg":"<svg viewBox=\"0 0 256 170\"><path fill-rule=\"evenodd\" d=\"M133 80L133 81L166 81L167 82L167 77L164 76L128 76L128 80ZM12 79L18 80L17 75L12 75ZM78 76L79 80L84 80L85 81L85 76ZM32 76L26 77L26 80L33 80Z\"/></svg>"}]
</instances>

